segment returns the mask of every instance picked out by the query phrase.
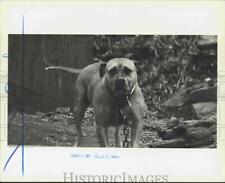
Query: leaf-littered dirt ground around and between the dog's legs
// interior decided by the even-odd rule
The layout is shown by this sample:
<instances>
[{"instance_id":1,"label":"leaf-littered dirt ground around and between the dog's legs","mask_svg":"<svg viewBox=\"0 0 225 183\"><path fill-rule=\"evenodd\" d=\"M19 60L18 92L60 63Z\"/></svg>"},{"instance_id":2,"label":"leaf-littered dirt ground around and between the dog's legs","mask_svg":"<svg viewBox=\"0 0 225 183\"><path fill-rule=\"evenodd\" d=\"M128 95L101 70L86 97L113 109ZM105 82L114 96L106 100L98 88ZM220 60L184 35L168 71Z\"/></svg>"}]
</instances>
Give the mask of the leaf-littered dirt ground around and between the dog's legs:
<instances>
[{"instance_id":1,"label":"leaf-littered dirt ground around and between the dog's legs","mask_svg":"<svg viewBox=\"0 0 225 183\"><path fill-rule=\"evenodd\" d=\"M172 118L172 120L174 119ZM8 121L9 145L21 143L22 126L24 126L25 145L73 146L75 143L76 131L73 123L73 115L70 113L69 108L57 108L55 111L50 111L48 113L9 113ZM22 121L24 122L23 125ZM212 127L214 128L214 126ZM183 133L186 134L186 132L183 132L182 128L180 131L176 130L174 132L174 130L172 130L173 133L170 133L172 129L170 127L171 119L159 119L156 112L148 112L144 118L144 133L140 142L140 147L216 147L216 135L213 134L211 138L209 132L203 128L200 130L199 127L195 128L195 131L198 131L191 131L187 139L186 136L183 135ZM210 129L212 127L210 127ZM112 147L115 146L114 131L114 128L109 129L109 143ZM179 135L177 131L182 135ZM83 132L82 147L99 147L92 108L88 108L85 113ZM191 140L190 134L192 135L191 137L194 137ZM121 136L123 140L122 129ZM206 142L202 140L208 136L210 136L210 138L207 138L209 140Z\"/></svg>"}]
</instances>

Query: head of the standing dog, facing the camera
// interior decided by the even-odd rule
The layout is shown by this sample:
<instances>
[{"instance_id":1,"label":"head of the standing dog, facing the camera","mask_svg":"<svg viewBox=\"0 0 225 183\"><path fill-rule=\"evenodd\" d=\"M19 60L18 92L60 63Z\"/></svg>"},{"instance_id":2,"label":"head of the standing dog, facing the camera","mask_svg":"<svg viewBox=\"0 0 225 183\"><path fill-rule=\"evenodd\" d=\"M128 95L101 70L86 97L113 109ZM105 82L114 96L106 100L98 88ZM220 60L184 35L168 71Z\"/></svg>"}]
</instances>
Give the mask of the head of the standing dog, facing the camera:
<instances>
[{"instance_id":1,"label":"head of the standing dog, facing the camera","mask_svg":"<svg viewBox=\"0 0 225 183\"><path fill-rule=\"evenodd\" d=\"M137 84L137 71L134 61L127 58L114 58L100 65L100 77L115 97L131 94Z\"/></svg>"}]
</instances>

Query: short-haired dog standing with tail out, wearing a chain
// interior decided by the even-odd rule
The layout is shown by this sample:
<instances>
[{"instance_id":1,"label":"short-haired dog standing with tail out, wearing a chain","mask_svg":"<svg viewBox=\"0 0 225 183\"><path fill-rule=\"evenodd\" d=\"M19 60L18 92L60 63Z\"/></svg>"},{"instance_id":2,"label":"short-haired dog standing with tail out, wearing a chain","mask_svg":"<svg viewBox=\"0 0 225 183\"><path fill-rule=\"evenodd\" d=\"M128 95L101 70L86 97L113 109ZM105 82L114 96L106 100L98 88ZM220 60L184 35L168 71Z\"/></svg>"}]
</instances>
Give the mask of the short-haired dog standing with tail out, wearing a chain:
<instances>
[{"instance_id":1,"label":"short-haired dog standing with tail out, wearing a chain","mask_svg":"<svg viewBox=\"0 0 225 183\"><path fill-rule=\"evenodd\" d=\"M134 61L114 58L107 63L88 65L82 70L61 66L47 67L71 73L79 73L75 85L74 120L77 128L76 146L82 144L82 120L89 105L94 108L96 132L100 147L109 147L108 129L113 126L117 147L122 147L120 128L131 126L131 147L139 147L143 130L143 115L147 110L143 94L137 82Z\"/></svg>"}]
</instances>

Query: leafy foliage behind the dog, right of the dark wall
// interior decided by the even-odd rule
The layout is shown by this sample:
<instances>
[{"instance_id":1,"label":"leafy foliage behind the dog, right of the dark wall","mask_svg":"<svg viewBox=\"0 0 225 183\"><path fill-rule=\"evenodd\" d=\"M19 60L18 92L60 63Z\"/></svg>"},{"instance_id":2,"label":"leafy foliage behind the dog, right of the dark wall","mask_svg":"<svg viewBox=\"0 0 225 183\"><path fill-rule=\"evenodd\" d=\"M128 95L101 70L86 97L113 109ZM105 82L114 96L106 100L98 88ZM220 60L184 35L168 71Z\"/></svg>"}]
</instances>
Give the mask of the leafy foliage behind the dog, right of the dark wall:
<instances>
[{"instance_id":1,"label":"leafy foliage behind the dog, right of the dark wall","mask_svg":"<svg viewBox=\"0 0 225 183\"><path fill-rule=\"evenodd\" d=\"M198 55L201 36L193 35L101 35L94 38L94 60L127 57L138 61L139 84L149 107L157 107L187 85L215 79L216 60Z\"/></svg>"}]
</instances>

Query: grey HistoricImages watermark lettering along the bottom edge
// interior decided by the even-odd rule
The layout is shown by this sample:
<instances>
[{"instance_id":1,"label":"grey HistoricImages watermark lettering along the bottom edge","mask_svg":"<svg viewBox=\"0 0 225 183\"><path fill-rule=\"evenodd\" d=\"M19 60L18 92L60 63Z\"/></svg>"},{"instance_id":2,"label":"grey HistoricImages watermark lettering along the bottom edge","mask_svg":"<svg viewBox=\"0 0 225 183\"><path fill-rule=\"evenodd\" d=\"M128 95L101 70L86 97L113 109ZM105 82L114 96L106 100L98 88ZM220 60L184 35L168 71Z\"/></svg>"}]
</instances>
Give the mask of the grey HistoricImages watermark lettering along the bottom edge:
<instances>
[{"instance_id":1,"label":"grey HistoricImages watermark lettering along the bottom edge","mask_svg":"<svg viewBox=\"0 0 225 183\"><path fill-rule=\"evenodd\" d=\"M168 178L168 175L130 175L126 172L115 175L63 173L64 182L168 182Z\"/></svg>"}]
</instances>

